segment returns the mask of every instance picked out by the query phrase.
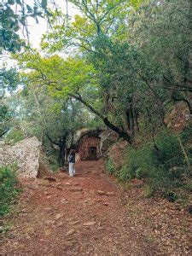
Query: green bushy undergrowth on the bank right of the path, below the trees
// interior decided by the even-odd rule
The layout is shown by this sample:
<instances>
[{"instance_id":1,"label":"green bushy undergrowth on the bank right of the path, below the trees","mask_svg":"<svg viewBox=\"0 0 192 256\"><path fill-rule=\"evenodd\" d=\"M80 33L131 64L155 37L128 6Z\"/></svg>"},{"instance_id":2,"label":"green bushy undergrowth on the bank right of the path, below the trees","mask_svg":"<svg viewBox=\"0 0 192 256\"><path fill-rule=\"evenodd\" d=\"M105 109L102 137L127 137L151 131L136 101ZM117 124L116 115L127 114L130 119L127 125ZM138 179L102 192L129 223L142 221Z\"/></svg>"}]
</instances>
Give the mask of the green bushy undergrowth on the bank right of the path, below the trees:
<instances>
[{"instance_id":1,"label":"green bushy undergrowth on the bank right of the path, below the trees","mask_svg":"<svg viewBox=\"0 0 192 256\"><path fill-rule=\"evenodd\" d=\"M192 148L189 143L189 129L180 134L188 160L192 161ZM120 170L115 170L108 158L107 169L119 177L120 181L132 178L145 180L145 195L158 195L169 201L186 201L191 190L190 171L177 136L161 131L154 142L143 143L139 147L125 149L125 162ZM184 193L185 191L186 193Z\"/></svg>"}]
</instances>

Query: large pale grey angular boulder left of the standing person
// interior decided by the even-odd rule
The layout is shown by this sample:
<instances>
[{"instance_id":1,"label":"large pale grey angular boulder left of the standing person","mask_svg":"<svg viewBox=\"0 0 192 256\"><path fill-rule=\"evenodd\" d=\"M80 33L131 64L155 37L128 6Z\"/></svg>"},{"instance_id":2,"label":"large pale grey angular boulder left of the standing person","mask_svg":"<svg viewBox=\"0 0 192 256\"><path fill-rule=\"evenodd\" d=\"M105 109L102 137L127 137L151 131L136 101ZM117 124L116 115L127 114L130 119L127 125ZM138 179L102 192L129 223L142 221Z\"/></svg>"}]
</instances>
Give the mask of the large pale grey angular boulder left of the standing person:
<instances>
[{"instance_id":1,"label":"large pale grey angular boulder left of the standing person","mask_svg":"<svg viewBox=\"0 0 192 256\"><path fill-rule=\"evenodd\" d=\"M26 138L14 146L0 147L0 166L14 162L18 166L18 177L43 177L50 172L49 163L37 137Z\"/></svg>"}]
</instances>

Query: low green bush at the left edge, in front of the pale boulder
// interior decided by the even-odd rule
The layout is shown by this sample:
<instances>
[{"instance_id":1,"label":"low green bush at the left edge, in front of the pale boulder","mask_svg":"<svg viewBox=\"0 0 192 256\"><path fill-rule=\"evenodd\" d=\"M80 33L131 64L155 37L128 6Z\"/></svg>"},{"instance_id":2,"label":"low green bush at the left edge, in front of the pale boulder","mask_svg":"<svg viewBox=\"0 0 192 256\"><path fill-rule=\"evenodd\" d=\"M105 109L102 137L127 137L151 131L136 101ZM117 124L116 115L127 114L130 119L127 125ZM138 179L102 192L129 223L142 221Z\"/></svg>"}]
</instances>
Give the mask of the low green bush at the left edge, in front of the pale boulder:
<instances>
[{"instance_id":1,"label":"low green bush at the left edge, in front of the pale boulder","mask_svg":"<svg viewBox=\"0 0 192 256\"><path fill-rule=\"evenodd\" d=\"M9 213L12 202L20 192L15 170L15 165L0 167L0 216Z\"/></svg>"}]
</instances>

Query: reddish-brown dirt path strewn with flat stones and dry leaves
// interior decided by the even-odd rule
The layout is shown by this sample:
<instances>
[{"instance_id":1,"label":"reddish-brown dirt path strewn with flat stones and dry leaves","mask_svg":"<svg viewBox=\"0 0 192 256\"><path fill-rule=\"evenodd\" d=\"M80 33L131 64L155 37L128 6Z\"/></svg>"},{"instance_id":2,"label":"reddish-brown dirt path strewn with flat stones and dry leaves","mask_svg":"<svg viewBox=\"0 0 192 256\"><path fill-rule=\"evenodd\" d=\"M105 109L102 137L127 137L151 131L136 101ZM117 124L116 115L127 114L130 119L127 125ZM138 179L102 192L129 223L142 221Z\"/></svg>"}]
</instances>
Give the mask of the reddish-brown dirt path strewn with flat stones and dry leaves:
<instances>
[{"instance_id":1,"label":"reddish-brown dirt path strewn with flat stones and dry leaves","mask_svg":"<svg viewBox=\"0 0 192 256\"><path fill-rule=\"evenodd\" d=\"M189 226L183 222L180 226L182 225L185 230L180 232L181 236L178 237L181 244L176 240L171 246L161 247L161 241L154 236L151 223L148 221L148 214L152 221L153 215L151 212L146 212L147 201L140 201L139 197L137 207L134 204L134 198L141 195L138 185L134 195L123 195L122 189L117 187L113 178L108 177L104 172L102 160L79 162L76 170L79 173L76 177L68 177L66 173L60 173L55 175L55 182L38 179L25 183L25 191L20 199L20 212L15 216L13 229L3 240L2 253L19 255L189 253L188 241L183 235L186 234ZM160 205L159 201L148 201L148 208L151 208L150 203ZM135 213L140 207L143 212ZM176 211L176 213L182 215L182 212ZM154 224L155 222L153 227Z\"/></svg>"}]
</instances>

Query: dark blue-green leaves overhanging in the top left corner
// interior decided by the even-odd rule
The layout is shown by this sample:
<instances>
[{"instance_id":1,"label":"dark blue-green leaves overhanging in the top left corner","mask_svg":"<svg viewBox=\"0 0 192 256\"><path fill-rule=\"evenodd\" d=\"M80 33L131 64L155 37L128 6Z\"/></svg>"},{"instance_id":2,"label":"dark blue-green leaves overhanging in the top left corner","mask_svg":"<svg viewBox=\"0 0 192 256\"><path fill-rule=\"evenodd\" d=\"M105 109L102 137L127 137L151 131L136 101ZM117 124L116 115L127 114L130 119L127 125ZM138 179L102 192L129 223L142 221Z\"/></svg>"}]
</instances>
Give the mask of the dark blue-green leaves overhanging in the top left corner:
<instances>
[{"instance_id":1,"label":"dark blue-green leaves overhanging in the top left corner","mask_svg":"<svg viewBox=\"0 0 192 256\"><path fill-rule=\"evenodd\" d=\"M39 17L51 15L47 9L47 0L42 3L34 0L31 3L28 1L9 0L0 3L1 7L1 38L0 38L0 53L3 49L15 53L20 51L22 46L26 45L25 40L20 38L20 27L28 35L28 18L33 18L38 22Z\"/></svg>"}]
</instances>

